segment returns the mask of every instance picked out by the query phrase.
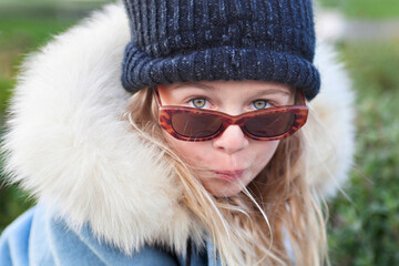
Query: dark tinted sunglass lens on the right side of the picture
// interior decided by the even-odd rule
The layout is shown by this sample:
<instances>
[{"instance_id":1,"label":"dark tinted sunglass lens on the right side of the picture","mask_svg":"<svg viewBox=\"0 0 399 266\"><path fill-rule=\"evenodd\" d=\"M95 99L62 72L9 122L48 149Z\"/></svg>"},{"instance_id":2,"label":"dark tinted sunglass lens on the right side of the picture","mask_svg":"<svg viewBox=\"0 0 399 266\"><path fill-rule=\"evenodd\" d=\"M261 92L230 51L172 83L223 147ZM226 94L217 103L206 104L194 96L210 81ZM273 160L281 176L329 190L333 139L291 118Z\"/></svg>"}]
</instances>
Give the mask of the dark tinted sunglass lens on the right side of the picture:
<instances>
[{"instance_id":1,"label":"dark tinted sunglass lens on the right side of the picture","mask_svg":"<svg viewBox=\"0 0 399 266\"><path fill-rule=\"evenodd\" d=\"M249 119L245 129L259 137L273 137L288 132L295 122L294 113L272 113Z\"/></svg>"}]
</instances>

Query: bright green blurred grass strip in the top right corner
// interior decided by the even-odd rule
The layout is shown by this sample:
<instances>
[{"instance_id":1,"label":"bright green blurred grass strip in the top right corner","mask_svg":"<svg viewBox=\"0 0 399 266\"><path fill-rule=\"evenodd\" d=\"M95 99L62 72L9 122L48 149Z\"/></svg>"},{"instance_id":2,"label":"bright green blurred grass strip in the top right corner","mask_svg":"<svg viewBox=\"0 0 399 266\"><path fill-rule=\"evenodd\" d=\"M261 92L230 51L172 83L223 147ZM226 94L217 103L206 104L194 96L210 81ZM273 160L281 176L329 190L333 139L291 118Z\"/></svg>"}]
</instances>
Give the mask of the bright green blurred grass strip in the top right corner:
<instances>
[{"instance_id":1,"label":"bright green blurred grass strip in the top right corner","mask_svg":"<svg viewBox=\"0 0 399 266\"><path fill-rule=\"evenodd\" d=\"M337 8L346 16L362 19L399 17L398 0L320 0L321 6Z\"/></svg>"}]
</instances>

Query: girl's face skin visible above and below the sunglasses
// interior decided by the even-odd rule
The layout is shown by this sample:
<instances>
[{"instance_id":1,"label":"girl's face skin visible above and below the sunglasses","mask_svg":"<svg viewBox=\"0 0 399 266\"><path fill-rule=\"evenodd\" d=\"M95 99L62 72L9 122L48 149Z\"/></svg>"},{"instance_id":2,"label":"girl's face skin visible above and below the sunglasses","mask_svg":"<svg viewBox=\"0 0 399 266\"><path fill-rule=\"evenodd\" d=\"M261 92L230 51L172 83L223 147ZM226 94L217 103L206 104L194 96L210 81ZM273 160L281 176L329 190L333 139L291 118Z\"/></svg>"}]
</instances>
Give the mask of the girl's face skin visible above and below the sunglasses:
<instances>
[{"instance_id":1,"label":"girl's face skin visible above and below the sunglasses","mask_svg":"<svg viewBox=\"0 0 399 266\"><path fill-rule=\"evenodd\" d=\"M208 109L238 115L294 103L288 85L265 81L202 81L158 88L162 105ZM267 165L279 141L255 141L229 125L211 141L181 141L163 131L166 142L194 166L204 187L215 196L239 193Z\"/></svg>"}]
</instances>

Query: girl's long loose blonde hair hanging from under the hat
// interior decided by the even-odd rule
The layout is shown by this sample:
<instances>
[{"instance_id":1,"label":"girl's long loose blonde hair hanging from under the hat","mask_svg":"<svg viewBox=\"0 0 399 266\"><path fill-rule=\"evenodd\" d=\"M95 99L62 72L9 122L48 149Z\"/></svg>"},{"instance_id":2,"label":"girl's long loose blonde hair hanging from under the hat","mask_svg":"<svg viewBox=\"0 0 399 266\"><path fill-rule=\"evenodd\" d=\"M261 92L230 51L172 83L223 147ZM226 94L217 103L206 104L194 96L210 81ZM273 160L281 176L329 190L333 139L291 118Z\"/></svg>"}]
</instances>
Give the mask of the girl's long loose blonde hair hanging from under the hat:
<instances>
[{"instance_id":1,"label":"girl's long loose blonde hair hanging from under the hat","mask_svg":"<svg viewBox=\"0 0 399 266\"><path fill-rule=\"evenodd\" d=\"M300 131L280 141L267 166L238 195L214 197L195 178L195 170L167 146L154 102L152 89L134 94L130 123L144 140L165 151L182 184L182 201L204 224L223 264L328 263L321 197L306 182ZM215 250L215 257L218 254Z\"/></svg>"}]
</instances>

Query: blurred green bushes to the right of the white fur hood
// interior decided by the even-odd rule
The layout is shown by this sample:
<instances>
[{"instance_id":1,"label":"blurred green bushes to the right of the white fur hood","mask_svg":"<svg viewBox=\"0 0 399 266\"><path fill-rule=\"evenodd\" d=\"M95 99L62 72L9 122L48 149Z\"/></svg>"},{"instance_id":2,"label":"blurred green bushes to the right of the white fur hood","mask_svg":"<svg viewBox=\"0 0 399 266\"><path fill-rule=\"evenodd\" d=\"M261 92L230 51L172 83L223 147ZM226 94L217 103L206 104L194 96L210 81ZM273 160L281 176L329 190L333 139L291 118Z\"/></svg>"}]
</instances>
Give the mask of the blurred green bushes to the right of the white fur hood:
<instances>
[{"instance_id":1,"label":"blurred green bushes to the right of the white fur hood","mask_svg":"<svg viewBox=\"0 0 399 266\"><path fill-rule=\"evenodd\" d=\"M349 198L330 206L332 265L399 265L399 40L340 47L357 91Z\"/></svg>"}]
</instances>

